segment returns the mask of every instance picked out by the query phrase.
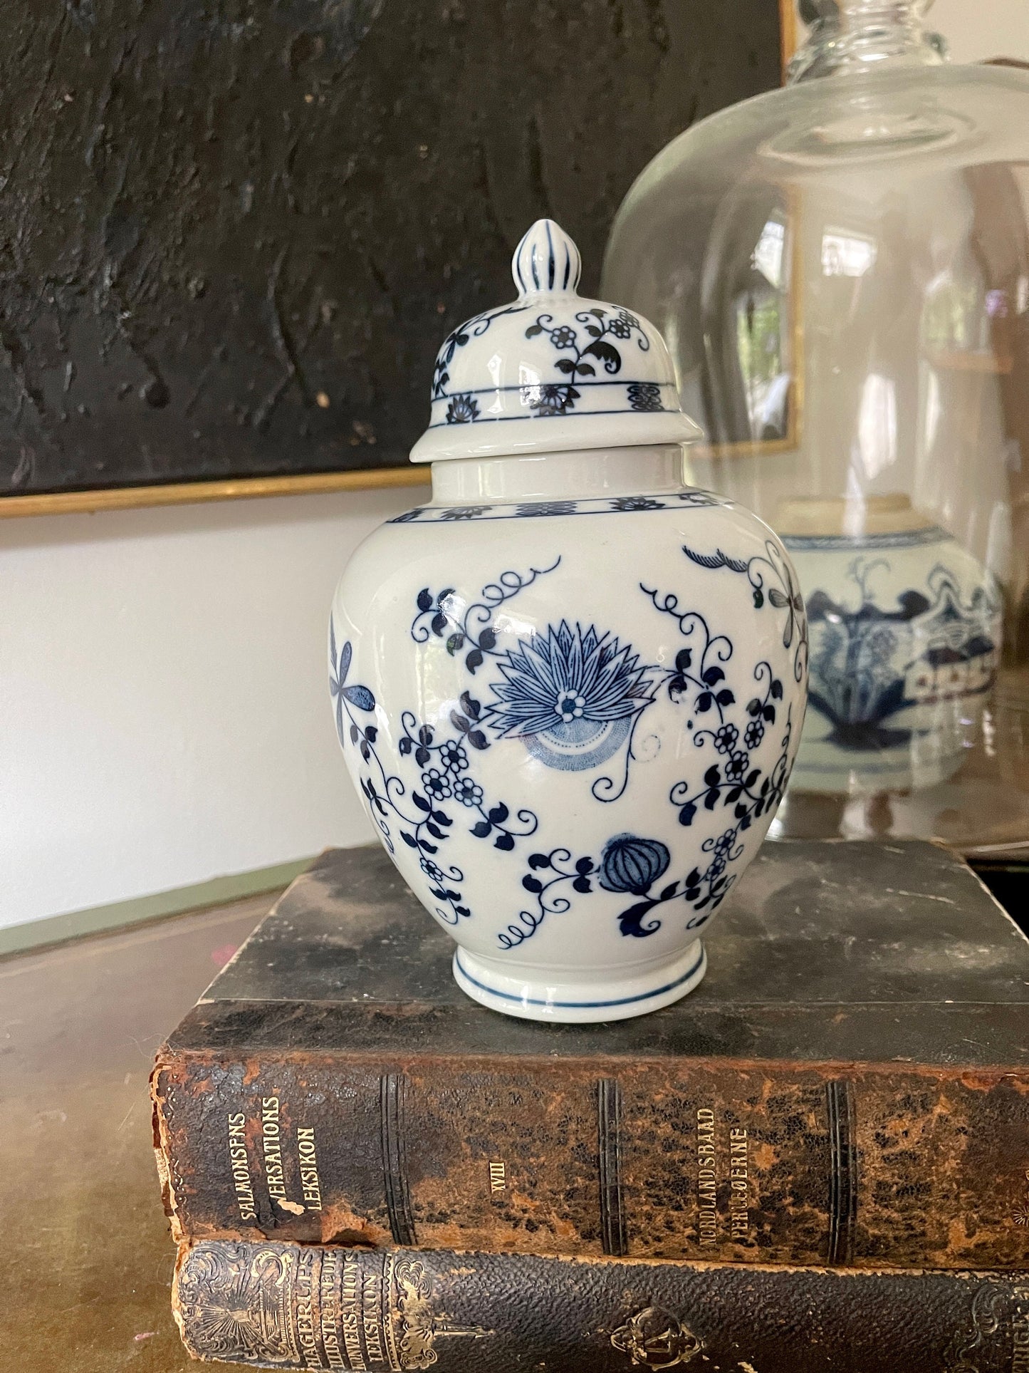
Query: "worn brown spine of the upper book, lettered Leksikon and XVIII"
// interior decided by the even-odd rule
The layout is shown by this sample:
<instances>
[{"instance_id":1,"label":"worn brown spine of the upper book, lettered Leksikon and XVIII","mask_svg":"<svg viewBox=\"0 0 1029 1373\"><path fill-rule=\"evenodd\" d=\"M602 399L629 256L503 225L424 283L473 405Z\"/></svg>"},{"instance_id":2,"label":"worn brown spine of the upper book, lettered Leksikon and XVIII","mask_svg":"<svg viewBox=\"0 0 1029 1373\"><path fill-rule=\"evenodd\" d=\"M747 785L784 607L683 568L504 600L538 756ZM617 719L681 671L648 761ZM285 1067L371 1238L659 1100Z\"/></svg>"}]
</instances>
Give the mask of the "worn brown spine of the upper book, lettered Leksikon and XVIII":
<instances>
[{"instance_id":1,"label":"worn brown spine of the upper book, lettered Leksikon and XVIII","mask_svg":"<svg viewBox=\"0 0 1029 1373\"><path fill-rule=\"evenodd\" d=\"M176 1238L1029 1267L1029 1075L163 1053Z\"/></svg>"}]
</instances>

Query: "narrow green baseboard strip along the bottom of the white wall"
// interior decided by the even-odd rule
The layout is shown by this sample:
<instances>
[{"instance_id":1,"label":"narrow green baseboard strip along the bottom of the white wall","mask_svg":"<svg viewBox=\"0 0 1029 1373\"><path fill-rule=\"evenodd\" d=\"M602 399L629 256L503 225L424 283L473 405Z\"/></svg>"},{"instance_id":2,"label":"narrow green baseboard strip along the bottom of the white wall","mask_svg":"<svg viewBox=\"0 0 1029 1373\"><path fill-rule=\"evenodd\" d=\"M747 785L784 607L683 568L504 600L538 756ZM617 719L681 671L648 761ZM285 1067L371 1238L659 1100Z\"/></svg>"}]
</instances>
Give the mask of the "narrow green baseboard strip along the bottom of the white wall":
<instances>
[{"instance_id":1,"label":"narrow green baseboard strip along the bottom of the white wall","mask_svg":"<svg viewBox=\"0 0 1029 1373\"><path fill-rule=\"evenodd\" d=\"M209 881L176 887L173 891L158 891L152 897L113 901L108 906L91 906L88 910L71 910L66 916L45 916L23 925L8 925L0 930L0 957L22 953L25 949L38 949L43 945L62 943L78 935L137 925L144 920L158 920L161 916L177 916L200 906L221 906L228 901L255 897L261 891L285 887L310 862L311 858L296 858L292 862L274 864L272 868L255 868L252 872L211 877Z\"/></svg>"}]
</instances>

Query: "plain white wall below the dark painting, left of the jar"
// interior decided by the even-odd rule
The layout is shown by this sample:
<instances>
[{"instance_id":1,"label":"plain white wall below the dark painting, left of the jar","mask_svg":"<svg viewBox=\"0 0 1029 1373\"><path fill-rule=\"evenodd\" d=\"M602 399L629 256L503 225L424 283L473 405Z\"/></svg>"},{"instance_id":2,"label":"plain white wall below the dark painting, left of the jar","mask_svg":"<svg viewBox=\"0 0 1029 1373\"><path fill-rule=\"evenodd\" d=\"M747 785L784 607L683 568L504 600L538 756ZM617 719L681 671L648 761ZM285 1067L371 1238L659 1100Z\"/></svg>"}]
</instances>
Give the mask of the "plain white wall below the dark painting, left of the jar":
<instances>
[{"instance_id":1,"label":"plain white wall below the dark painting, left of the jar","mask_svg":"<svg viewBox=\"0 0 1029 1373\"><path fill-rule=\"evenodd\" d=\"M0 522L0 925L372 838L328 608L420 494Z\"/></svg>"}]
</instances>

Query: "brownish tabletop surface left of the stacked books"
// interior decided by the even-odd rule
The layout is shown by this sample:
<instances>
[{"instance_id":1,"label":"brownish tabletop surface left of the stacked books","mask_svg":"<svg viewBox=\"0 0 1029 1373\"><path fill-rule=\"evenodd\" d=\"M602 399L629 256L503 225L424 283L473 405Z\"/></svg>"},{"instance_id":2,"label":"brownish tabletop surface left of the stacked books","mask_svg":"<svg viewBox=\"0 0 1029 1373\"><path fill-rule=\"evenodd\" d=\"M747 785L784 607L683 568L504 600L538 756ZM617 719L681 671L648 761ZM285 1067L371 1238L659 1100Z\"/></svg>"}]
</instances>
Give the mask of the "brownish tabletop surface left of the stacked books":
<instances>
[{"instance_id":1,"label":"brownish tabletop surface left of the stacked books","mask_svg":"<svg viewBox=\"0 0 1029 1373\"><path fill-rule=\"evenodd\" d=\"M0 960L0 1373L199 1368L172 1319L147 1081L273 899Z\"/></svg>"}]
</instances>

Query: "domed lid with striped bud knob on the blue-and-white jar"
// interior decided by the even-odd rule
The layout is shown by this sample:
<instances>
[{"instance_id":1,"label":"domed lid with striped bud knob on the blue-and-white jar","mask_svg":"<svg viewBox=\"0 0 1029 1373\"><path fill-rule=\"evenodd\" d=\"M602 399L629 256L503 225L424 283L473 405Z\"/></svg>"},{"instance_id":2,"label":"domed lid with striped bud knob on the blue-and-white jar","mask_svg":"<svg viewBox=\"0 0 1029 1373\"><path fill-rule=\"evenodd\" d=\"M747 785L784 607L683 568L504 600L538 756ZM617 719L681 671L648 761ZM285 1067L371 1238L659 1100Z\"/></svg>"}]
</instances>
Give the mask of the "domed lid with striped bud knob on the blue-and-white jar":
<instances>
[{"instance_id":1,"label":"domed lid with striped bud knob on the blue-and-white jar","mask_svg":"<svg viewBox=\"0 0 1029 1373\"><path fill-rule=\"evenodd\" d=\"M583 299L579 250L536 220L514 250L519 297L454 330L436 357L432 417L412 463L687 443L664 339L648 320Z\"/></svg>"}]
</instances>

